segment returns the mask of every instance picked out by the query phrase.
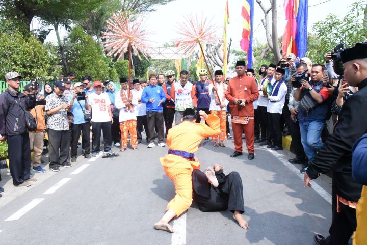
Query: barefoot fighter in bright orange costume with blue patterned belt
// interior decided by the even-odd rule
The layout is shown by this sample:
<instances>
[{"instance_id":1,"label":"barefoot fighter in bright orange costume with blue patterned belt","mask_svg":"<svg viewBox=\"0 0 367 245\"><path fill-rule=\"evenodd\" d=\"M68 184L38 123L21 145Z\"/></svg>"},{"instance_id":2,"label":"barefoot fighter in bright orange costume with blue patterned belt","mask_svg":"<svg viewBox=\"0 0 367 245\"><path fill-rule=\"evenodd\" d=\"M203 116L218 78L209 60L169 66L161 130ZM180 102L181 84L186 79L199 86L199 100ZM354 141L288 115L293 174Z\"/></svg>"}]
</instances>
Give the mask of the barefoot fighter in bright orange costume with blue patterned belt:
<instances>
[{"instance_id":1,"label":"barefoot fighter in bright orange costume with blue patterned belt","mask_svg":"<svg viewBox=\"0 0 367 245\"><path fill-rule=\"evenodd\" d=\"M161 164L167 176L173 181L176 196L168 203L166 213L161 220L154 224L157 230L174 232L173 227L168 224L173 217L178 217L185 212L192 203L192 178L194 169L199 169L200 164L195 157L200 142L206 137L220 133L220 121L217 115L207 115L200 111L200 117L210 126L204 123L195 123L196 114L191 108L183 112L182 123L171 128L167 135L168 154L161 157ZM208 168L204 171L213 186L218 186L214 170Z\"/></svg>"}]
</instances>

